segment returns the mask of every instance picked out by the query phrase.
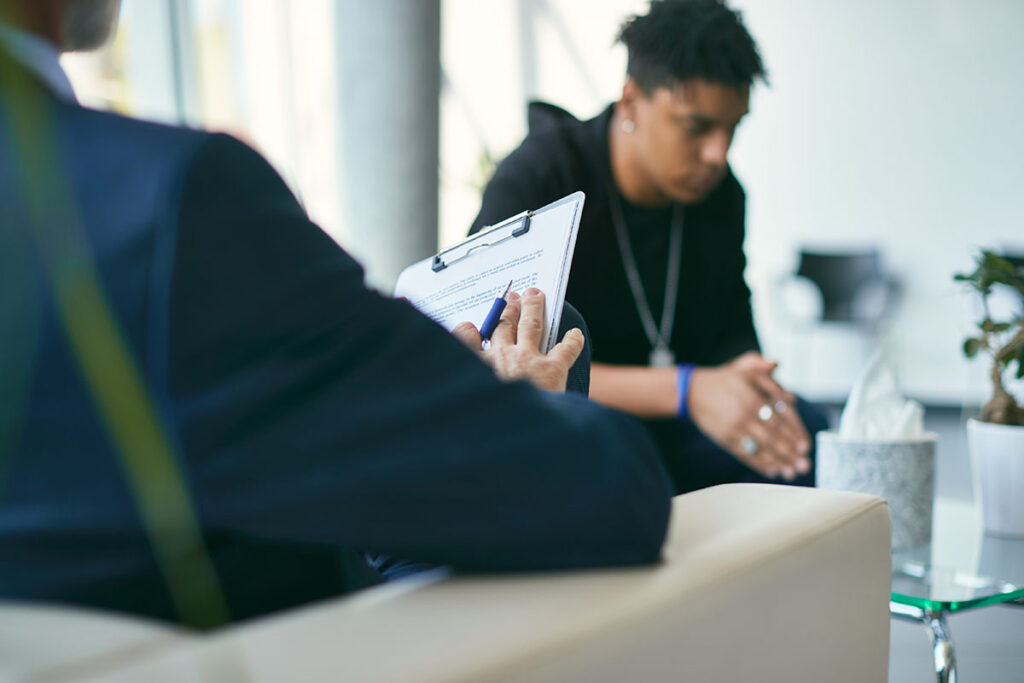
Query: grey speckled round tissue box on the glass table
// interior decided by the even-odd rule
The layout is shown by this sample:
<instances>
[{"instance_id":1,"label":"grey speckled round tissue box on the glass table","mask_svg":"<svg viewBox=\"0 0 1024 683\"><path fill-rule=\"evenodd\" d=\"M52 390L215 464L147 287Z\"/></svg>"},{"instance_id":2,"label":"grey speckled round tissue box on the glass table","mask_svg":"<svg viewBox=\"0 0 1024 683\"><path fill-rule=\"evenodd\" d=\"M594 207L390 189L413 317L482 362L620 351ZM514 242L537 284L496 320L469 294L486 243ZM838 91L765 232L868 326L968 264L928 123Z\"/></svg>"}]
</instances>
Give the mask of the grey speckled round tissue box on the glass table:
<instances>
[{"instance_id":1,"label":"grey speckled round tissue box on the glass table","mask_svg":"<svg viewBox=\"0 0 1024 683\"><path fill-rule=\"evenodd\" d=\"M814 467L817 486L886 499L893 549L927 546L932 541L937 441L935 434L880 441L820 431Z\"/></svg>"}]
</instances>

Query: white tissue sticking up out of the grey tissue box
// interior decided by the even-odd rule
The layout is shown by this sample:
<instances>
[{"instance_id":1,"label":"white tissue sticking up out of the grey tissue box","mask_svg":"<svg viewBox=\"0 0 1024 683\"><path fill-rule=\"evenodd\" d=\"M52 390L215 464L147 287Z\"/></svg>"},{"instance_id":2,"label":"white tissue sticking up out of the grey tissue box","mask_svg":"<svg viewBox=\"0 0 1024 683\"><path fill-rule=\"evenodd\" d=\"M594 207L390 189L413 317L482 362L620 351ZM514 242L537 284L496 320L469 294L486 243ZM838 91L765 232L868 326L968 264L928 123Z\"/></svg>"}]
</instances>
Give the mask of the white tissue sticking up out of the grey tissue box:
<instances>
[{"instance_id":1,"label":"white tissue sticking up out of the grey tissue box","mask_svg":"<svg viewBox=\"0 0 1024 683\"><path fill-rule=\"evenodd\" d=\"M878 351L853 385L839 420L839 435L872 441L920 438L924 417L921 403L903 397L895 369Z\"/></svg>"}]
</instances>

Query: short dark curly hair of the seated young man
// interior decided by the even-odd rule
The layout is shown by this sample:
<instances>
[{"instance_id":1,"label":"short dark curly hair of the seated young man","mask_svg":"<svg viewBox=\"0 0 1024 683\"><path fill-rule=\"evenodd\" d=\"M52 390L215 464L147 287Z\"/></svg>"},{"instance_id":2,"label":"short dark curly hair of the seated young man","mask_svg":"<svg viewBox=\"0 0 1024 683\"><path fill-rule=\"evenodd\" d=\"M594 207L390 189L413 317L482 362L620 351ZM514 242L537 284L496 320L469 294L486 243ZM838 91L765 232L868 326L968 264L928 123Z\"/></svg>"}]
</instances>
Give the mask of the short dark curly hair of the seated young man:
<instances>
[{"instance_id":1,"label":"short dark curly hair of the seated young man","mask_svg":"<svg viewBox=\"0 0 1024 683\"><path fill-rule=\"evenodd\" d=\"M651 0L623 25L626 73L645 94L692 78L750 86L767 74L738 11L719 0Z\"/></svg>"}]
</instances>

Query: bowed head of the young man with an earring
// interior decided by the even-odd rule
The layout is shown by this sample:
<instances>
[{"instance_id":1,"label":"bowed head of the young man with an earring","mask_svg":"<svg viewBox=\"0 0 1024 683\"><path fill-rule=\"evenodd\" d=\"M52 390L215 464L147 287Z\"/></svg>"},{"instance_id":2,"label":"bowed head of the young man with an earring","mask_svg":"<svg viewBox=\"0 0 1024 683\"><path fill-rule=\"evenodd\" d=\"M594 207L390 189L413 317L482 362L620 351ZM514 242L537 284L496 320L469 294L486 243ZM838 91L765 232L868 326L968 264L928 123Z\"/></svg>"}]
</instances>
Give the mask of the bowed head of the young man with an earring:
<instances>
[{"instance_id":1,"label":"bowed head of the young man with an earring","mask_svg":"<svg viewBox=\"0 0 1024 683\"><path fill-rule=\"evenodd\" d=\"M618 40L629 63L615 113L635 167L662 199L700 202L724 177L751 86L765 79L754 39L719 0L653 0Z\"/></svg>"}]
</instances>

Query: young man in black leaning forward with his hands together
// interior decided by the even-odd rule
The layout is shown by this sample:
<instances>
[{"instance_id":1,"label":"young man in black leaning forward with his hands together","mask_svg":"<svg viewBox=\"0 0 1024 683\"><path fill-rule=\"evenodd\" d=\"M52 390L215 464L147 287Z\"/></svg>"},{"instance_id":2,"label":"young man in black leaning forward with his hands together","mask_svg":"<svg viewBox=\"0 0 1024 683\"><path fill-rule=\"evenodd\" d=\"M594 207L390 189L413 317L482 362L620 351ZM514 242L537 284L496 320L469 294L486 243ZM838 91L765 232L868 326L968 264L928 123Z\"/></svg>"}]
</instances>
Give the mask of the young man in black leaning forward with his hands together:
<instances>
[{"instance_id":1,"label":"young man in black leaning forward with his hands together","mask_svg":"<svg viewBox=\"0 0 1024 683\"><path fill-rule=\"evenodd\" d=\"M645 419L679 490L810 483L805 424L824 419L760 355L744 195L727 159L765 77L754 40L717 0L655 0L620 40L620 100L583 122L531 104L529 135L499 166L471 231L583 189L566 298L591 330L591 396Z\"/></svg>"}]
</instances>

